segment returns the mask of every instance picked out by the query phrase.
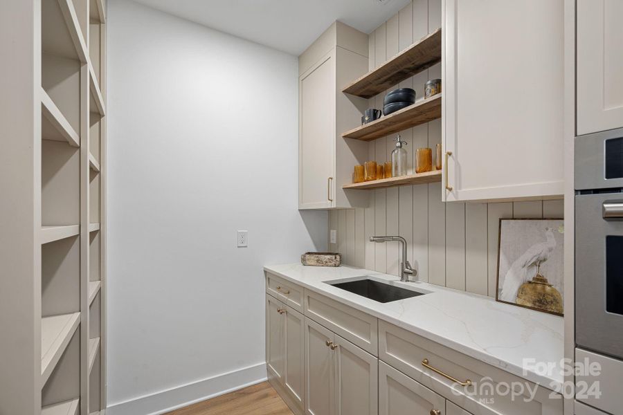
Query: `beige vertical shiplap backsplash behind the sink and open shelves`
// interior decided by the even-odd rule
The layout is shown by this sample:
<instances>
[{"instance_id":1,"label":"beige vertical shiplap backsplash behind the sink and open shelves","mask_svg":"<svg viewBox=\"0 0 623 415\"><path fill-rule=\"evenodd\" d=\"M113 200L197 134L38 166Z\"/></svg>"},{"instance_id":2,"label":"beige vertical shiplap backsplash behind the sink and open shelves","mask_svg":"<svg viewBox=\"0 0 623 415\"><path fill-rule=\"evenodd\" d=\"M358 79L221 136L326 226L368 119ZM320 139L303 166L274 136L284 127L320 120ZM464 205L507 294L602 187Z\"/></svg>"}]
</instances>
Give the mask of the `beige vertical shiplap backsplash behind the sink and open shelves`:
<instances>
[{"instance_id":1,"label":"beige vertical shiplap backsplash behind the sink and open shelves","mask_svg":"<svg viewBox=\"0 0 623 415\"><path fill-rule=\"evenodd\" d=\"M413 0L370 33L370 69L440 27L441 0ZM440 77L437 64L390 90L413 88L422 98L426 81ZM370 107L382 108L385 93L370 98ZM408 143L409 174L415 149L441 142L441 125L435 120L400 132ZM369 160L390 160L393 138L371 141ZM337 230L337 243L329 241L329 249L340 252L344 264L398 275L399 244L368 237L399 234L421 281L495 297L499 219L542 217L563 217L563 201L443 203L441 183L370 190L368 208L329 212L329 229Z\"/></svg>"}]
</instances>

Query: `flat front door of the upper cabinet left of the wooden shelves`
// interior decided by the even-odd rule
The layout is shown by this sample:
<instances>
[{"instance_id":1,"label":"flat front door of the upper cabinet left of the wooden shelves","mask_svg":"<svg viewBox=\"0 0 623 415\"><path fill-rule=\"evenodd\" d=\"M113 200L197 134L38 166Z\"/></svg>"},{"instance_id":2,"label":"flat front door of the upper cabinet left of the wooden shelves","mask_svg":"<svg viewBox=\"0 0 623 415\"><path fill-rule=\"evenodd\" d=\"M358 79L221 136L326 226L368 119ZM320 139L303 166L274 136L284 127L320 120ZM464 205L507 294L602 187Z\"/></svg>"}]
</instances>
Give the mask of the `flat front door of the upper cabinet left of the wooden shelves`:
<instances>
[{"instance_id":1,"label":"flat front door of the upper cabinet left of the wooden shelves","mask_svg":"<svg viewBox=\"0 0 623 415\"><path fill-rule=\"evenodd\" d=\"M334 51L299 80L298 208L332 208L335 151Z\"/></svg>"}]
</instances>

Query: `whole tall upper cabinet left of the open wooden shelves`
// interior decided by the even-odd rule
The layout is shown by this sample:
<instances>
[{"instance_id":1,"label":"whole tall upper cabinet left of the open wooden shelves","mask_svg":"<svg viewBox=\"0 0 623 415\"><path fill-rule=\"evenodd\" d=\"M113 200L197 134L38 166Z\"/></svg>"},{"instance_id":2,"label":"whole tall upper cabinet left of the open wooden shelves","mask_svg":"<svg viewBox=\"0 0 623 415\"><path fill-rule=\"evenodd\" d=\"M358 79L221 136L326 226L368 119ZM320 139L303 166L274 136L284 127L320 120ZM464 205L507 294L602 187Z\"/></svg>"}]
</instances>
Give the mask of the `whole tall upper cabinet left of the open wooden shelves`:
<instances>
[{"instance_id":1,"label":"whole tall upper cabinet left of the open wooden shelves","mask_svg":"<svg viewBox=\"0 0 623 415\"><path fill-rule=\"evenodd\" d=\"M352 183L368 144L341 133L361 123L368 100L342 88L368 71L368 35L335 22L298 57L298 69L298 208L363 207L368 194L342 186Z\"/></svg>"}]
</instances>

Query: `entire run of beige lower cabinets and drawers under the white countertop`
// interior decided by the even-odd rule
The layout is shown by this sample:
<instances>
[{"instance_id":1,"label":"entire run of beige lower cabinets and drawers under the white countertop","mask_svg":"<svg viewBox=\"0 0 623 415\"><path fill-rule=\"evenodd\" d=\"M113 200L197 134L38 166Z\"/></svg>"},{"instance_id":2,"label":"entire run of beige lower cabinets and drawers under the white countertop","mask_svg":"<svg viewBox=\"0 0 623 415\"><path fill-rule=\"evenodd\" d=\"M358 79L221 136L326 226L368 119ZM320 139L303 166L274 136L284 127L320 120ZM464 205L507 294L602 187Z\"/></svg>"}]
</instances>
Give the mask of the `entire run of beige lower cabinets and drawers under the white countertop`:
<instances>
[{"instance_id":1,"label":"entire run of beige lower cabinets and drawers under the white countertop","mask_svg":"<svg viewBox=\"0 0 623 415\"><path fill-rule=\"evenodd\" d=\"M563 414L561 396L545 387L360 311L348 319L345 305L316 304L302 287L289 288L305 293L305 315L267 294L266 361L269 382L296 415ZM325 325L359 333L365 347L373 338L378 356ZM520 384L532 396L498 393Z\"/></svg>"}]
</instances>

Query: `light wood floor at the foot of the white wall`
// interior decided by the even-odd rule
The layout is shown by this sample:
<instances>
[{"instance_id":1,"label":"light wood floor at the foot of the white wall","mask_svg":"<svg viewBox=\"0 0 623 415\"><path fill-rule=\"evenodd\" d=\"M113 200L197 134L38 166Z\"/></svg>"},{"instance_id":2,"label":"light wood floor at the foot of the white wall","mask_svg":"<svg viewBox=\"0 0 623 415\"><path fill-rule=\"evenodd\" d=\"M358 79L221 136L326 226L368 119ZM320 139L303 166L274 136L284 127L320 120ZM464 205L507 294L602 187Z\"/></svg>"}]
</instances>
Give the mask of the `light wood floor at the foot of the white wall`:
<instances>
[{"instance_id":1,"label":"light wood floor at the foot of the white wall","mask_svg":"<svg viewBox=\"0 0 623 415\"><path fill-rule=\"evenodd\" d=\"M293 415L269 382L204 400L166 415Z\"/></svg>"}]
</instances>

